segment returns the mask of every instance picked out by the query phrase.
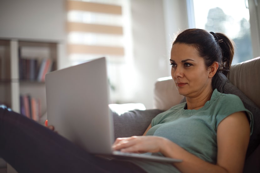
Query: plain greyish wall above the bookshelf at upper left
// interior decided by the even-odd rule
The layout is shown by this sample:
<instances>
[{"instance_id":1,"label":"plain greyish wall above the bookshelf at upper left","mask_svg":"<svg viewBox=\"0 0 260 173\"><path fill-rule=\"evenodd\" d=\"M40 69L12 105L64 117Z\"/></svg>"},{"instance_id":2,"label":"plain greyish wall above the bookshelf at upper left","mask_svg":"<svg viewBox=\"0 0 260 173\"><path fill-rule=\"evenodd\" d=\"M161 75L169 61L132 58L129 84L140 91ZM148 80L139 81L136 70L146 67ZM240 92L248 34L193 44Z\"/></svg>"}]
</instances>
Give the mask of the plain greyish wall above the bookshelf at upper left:
<instances>
[{"instance_id":1,"label":"plain greyish wall above the bookshelf at upper left","mask_svg":"<svg viewBox=\"0 0 260 173\"><path fill-rule=\"evenodd\" d=\"M64 0L1 0L0 37L65 39Z\"/></svg>"}]
</instances>

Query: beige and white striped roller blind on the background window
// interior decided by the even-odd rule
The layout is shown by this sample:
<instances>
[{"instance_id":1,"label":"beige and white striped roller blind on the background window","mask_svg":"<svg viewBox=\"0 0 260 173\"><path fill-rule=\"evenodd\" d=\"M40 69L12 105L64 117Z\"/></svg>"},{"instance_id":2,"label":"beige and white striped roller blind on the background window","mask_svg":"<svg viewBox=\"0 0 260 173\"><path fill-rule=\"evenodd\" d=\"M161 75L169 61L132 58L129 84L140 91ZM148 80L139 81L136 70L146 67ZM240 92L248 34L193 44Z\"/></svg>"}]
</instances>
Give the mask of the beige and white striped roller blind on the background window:
<instances>
[{"instance_id":1,"label":"beige and white striped roller blind on the background window","mask_svg":"<svg viewBox=\"0 0 260 173\"><path fill-rule=\"evenodd\" d=\"M125 56L122 2L67 0L67 52L72 61Z\"/></svg>"}]
</instances>

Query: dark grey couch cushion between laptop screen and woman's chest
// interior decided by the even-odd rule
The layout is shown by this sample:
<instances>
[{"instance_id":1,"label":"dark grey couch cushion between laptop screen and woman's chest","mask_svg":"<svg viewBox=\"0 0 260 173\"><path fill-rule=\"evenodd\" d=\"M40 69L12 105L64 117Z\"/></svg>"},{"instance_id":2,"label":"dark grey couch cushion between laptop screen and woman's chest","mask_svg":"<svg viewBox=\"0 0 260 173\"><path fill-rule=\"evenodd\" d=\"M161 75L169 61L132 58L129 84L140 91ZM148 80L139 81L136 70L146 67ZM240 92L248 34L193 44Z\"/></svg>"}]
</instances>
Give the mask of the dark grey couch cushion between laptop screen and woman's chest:
<instances>
[{"instance_id":1,"label":"dark grey couch cushion between laptop screen and woman's chest","mask_svg":"<svg viewBox=\"0 0 260 173\"><path fill-rule=\"evenodd\" d=\"M115 139L119 137L130 137L143 135L152 119L163 112L159 109L131 110L123 114L118 114L112 110L114 119Z\"/></svg>"}]
</instances>

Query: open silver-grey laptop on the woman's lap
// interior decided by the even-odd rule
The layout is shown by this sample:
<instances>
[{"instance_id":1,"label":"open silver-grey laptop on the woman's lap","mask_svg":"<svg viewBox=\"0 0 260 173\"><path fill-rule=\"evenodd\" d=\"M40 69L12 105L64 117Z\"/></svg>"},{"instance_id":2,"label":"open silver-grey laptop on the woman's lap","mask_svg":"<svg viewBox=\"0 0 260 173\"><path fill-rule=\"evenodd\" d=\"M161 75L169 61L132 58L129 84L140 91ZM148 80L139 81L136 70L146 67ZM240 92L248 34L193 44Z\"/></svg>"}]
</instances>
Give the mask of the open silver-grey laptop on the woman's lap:
<instances>
[{"instance_id":1,"label":"open silver-grey laptop on the woman's lap","mask_svg":"<svg viewBox=\"0 0 260 173\"><path fill-rule=\"evenodd\" d=\"M114 126L109 110L106 58L46 74L48 124L89 153L110 158L135 158L160 162L181 160L158 155L113 151Z\"/></svg>"}]
</instances>

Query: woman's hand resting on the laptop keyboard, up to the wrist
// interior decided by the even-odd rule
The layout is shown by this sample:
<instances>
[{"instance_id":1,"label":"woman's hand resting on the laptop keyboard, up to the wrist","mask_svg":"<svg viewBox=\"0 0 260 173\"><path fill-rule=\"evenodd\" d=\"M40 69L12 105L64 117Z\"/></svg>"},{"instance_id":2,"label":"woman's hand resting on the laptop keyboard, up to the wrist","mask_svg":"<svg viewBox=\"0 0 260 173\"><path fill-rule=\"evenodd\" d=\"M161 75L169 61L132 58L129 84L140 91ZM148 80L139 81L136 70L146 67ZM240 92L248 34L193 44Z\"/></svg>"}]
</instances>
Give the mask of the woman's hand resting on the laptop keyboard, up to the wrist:
<instances>
[{"instance_id":1,"label":"woman's hand resting on the laptop keyboard, up to the wrist","mask_svg":"<svg viewBox=\"0 0 260 173\"><path fill-rule=\"evenodd\" d=\"M158 136L132 136L128 138L117 138L112 149L122 152L145 153L161 152L167 139Z\"/></svg>"}]
</instances>

